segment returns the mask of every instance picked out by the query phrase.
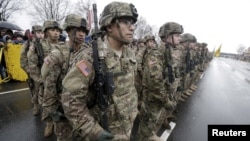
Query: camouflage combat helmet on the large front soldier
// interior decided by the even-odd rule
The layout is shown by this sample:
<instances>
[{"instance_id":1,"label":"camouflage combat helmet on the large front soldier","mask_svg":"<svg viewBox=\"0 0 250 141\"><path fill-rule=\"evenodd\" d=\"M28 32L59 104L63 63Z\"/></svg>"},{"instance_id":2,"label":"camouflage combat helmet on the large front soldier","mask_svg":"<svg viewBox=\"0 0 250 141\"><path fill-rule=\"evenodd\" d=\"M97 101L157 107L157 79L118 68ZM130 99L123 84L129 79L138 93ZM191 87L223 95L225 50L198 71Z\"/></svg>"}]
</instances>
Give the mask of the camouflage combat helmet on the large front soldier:
<instances>
[{"instance_id":1,"label":"camouflage combat helmet on the large front soldier","mask_svg":"<svg viewBox=\"0 0 250 141\"><path fill-rule=\"evenodd\" d=\"M128 4L124 2L111 2L104 7L104 10L100 17L100 29L104 28L111 24L114 19L120 17L131 17L134 22L137 21L138 13L133 4Z\"/></svg>"}]
</instances>

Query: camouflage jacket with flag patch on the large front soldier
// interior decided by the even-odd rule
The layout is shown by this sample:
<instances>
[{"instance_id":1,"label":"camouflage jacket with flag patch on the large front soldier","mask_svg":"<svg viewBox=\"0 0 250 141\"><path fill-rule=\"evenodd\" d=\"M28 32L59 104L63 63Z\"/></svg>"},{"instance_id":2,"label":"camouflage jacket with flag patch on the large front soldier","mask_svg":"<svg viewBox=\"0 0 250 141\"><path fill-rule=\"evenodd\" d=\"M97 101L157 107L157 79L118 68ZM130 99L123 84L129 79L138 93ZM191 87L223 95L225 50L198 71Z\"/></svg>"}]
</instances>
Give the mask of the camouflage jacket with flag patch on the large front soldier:
<instances>
[{"instance_id":1,"label":"camouflage jacket with flag patch on the large front soldier","mask_svg":"<svg viewBox=\"0 0 250 141\"><path fill-rule=\"evenodd\" d=\"M126 46L123 47L119 57L105 38L104 42L98 42L99 54L105 57L107 71L113 72L115 90L112 94L113 104L107 109L109 129L129 131L137 115L137 92L135 89L134 75L136 59L134 53ZM80 50L71 68L63 79L64 92L62 104L65 115L73 123L73 129L80 132L80 136L95 140L102 132L99 125L100 110L97 106L87 108L87 99L95 99L93 84L95 71L93 67L93 50L87 48ZM90 99L92 99L90 98Z\"/></svg>"}]
</instances>

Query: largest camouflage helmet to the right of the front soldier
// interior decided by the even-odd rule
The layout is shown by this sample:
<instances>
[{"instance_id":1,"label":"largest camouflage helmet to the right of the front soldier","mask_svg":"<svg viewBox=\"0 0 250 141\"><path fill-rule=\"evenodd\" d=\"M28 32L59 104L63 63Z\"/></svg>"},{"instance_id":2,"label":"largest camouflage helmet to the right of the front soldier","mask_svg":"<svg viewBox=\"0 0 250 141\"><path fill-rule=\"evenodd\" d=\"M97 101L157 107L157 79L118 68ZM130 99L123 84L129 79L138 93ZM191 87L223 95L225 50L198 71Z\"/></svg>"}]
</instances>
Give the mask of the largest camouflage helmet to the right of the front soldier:
<instances>
[{"instance_id":1,"label":"largest camouflage helmet to the right of the front soldier","mask_svg":"<svg viewBox=\"0 0 250 141\"><path fill-rule=\"evenodd\" d=\"M160 37L168 36L173 33L182 34L183 33L182 25L176 22L167 22L160 27L160 30L159 30Z\"/></svg>"}]
</instances>

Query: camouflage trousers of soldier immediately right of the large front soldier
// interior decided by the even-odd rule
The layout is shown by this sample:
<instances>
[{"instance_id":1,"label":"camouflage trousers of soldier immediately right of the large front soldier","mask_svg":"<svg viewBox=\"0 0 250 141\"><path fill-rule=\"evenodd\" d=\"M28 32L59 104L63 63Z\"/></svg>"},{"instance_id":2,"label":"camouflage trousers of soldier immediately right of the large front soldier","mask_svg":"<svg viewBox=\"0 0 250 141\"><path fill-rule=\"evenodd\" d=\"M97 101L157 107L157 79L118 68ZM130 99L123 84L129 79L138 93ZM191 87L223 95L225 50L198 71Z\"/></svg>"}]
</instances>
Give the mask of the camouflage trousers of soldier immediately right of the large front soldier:
<instances>
[{"instance_id":1,"label":"camouflage trousers of soldier immediately right of the large front soldier","mask_svg":"<svg viewBox=\"0 0 250 141\"><path fill-rule=\"evenodd\" d=\"M150 141L150 138L161 128L166 110L159 103L144 102L144 104L140 113L138 140Z\"/></svg>"}]
</instances>

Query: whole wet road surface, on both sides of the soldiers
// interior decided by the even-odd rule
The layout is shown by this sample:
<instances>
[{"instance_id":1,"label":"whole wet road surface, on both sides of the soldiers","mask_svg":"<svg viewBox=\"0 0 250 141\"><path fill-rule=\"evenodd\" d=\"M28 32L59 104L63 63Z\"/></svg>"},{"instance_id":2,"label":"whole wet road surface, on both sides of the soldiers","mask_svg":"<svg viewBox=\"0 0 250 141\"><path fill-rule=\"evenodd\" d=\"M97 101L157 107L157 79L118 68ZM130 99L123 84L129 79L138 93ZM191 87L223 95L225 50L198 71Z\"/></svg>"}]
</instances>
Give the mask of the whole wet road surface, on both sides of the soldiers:
<instances>
[{"instance_id":1,"label":"whole wet road surface, on both sides of the soldiers","mask_svg":"<svg viewBox=\"0 0 250 141\"><path fill-rule=\"evenodd\" d=\"M56 140L43 137L44 125L40 116L32 115L25 88L26 82L0 85L0 141ZM249 107L250 64L215 58L198 89L178 105L178 120L167 141L207 141L208 124L250 124Z\"/></svg>"}]
</instances>

